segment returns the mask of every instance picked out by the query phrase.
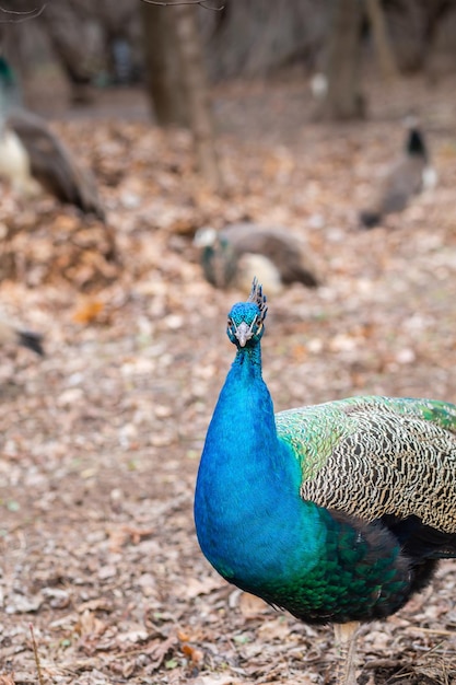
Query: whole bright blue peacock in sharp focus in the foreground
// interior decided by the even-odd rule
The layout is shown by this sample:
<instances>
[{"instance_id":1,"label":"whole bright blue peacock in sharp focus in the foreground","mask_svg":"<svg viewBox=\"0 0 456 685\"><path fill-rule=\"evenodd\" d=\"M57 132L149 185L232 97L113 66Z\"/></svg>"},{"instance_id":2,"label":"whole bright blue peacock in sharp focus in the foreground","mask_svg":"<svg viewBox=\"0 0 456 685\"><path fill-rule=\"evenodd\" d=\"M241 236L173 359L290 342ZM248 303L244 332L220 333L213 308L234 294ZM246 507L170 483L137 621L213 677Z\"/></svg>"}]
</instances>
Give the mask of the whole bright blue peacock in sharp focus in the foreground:
<instances>
[{"instance_id":1,"label":"whole bright blue peacock in sharp focus in the foreground","mask_svg":"<svg viewBox=\"0 0 456 685\"><path fill-rule=\"evenodd\" d=\"M266 297L234 304L236 355L201 455L196 531L217 571L308 624L355 632L456 557L456 405L360 396L280 411L261 375Z\"/></svg>"}]
</instances>

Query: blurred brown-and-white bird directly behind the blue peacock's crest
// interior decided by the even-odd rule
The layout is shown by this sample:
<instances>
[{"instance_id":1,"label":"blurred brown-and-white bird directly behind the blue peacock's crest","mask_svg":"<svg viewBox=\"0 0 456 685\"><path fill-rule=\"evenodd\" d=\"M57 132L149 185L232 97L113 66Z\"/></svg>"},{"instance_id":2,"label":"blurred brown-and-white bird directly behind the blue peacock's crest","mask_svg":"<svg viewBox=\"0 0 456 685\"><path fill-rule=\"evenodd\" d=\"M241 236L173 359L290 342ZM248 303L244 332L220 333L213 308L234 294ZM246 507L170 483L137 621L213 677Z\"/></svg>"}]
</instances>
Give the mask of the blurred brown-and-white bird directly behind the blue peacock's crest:
<instances>
[{"instance_id":1,"label":"blurred brown-and-white bird directly behind the blue peacock's crest","mask_svg":"<svg viewBox=\"0 0 456 685\"><path fill-rule=\"evenodd\" d=\"M221 231L204 228L197 232L195 244L201 248L204 277L215 288L238 287L248 292L255 274L274 293L293 282L318 286L305 244L287 229L248 222Z\"/></svg>"}]
</instances>

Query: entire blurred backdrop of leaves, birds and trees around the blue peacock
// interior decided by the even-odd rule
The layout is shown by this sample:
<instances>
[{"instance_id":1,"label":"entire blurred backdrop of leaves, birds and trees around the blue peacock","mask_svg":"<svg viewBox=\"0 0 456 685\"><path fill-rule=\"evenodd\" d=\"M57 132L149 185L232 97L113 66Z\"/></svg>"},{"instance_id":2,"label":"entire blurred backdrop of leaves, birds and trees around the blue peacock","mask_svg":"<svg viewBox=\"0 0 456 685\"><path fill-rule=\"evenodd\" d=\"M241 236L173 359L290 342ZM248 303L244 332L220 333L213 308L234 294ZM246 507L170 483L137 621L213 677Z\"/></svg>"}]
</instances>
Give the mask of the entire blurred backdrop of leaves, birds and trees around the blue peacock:
<instances>
[{"instance_id":1,"label":"entire blurred backdrop of leaves, birds and trees around the blue peacock","mask_svg":"<svg viewBox=\"0 0 456 685\"><path fill-rule=\"evenodd\" d=\"M331 682L329 630L203 560L195 476L254 275L277 410L455 400L455 35L453 0L2 0L1 685L31 622L52 683ZM453 566L364 682L455 677Z\"/></svg>"}]
</instances>

